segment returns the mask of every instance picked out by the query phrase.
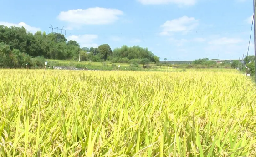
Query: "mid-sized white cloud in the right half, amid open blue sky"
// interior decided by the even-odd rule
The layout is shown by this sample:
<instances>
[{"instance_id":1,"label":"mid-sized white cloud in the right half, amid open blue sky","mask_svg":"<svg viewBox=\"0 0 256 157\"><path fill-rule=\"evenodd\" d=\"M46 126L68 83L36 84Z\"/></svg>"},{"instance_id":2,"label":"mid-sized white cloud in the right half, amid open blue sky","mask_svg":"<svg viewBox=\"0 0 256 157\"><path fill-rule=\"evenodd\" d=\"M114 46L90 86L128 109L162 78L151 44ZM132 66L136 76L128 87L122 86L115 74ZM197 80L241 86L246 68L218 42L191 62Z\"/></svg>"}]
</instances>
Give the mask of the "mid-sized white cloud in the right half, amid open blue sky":
<instances>
[{"instance_id":1,"label":"mid-sized white cloud in the right half, amid open blue sky","mask_svg":"<svg viewBox=\"0 0 256 157\"><path fill-rule=\"evenodd\" d=\"M163 29L160 35L172 35L173 32L188 33L190 30L195 29L199 23L194 17L183 16L178 19L166 21L161 28Z\"/></svg>"}]
</instances>

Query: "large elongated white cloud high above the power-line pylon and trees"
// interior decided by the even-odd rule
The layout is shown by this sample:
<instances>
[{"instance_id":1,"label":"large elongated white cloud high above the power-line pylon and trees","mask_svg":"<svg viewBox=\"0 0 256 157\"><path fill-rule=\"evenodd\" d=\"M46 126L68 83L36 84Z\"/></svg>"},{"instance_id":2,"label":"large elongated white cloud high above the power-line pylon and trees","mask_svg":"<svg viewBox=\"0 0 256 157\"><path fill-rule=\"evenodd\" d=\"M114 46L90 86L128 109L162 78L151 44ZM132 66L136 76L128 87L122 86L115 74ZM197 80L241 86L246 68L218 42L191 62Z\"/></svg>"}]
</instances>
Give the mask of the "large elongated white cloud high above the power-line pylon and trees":
<instances>
[{"instance_id":1,"label":"large elongated white cloud high above the power-line pylon and trees","mask_svg":"<svg viewBox=\"0 0 256 157\"><path fill-rule=\"evenodd\" d=\"M61 11L58 19L76 25L103 25L110 24L119 19L123 11L107 8L88 8Z\"/></svg>"}]
</instances>

